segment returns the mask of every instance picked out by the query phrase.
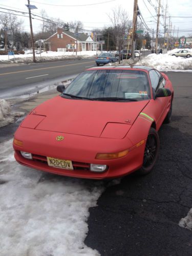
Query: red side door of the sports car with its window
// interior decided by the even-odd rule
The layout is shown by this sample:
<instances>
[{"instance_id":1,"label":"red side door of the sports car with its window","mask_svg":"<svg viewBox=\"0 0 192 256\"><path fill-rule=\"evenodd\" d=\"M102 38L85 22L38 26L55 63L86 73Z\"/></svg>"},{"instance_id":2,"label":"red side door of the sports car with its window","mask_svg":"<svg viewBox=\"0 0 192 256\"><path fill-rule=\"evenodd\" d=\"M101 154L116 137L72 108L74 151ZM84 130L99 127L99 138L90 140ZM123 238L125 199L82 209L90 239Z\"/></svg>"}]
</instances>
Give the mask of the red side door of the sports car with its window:
<instances>
[{"instance_id":1,"label":"red side door of the sports car with its window","mask_svg":"<svg viewBox=\"0 0 192 256\"><path fill-rule=\"evenodd\" d=\"M162 75L157 70L151 70L149 72L151 86L153 91L153 111L154 117L156 120L157 130L161 126L163 120L167 115L167 104L168 104L168 97L159 97L155 98L156 92L160 87L166 86L166 80L162 77Z\"/></svg>"}]
</instances>

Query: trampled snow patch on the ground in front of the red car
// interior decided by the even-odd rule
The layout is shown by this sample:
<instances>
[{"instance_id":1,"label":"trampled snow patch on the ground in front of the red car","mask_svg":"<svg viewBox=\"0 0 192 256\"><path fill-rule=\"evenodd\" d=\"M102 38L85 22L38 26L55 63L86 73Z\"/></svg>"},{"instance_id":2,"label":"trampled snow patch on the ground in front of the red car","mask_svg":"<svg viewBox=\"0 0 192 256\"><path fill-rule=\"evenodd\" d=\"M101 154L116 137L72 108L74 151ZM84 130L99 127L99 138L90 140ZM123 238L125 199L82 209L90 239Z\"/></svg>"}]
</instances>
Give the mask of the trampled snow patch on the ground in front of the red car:
<instances>
[{"instance_id":1,"label":"trampled snow patch on the ground in front of the red car","mask_svg":"<svg viewBox=\"0 0 192 256\"><path fill-rule=\"evenodd\" d=\"M1 144L1 255L99 255L83 241L99 181L42 173L16 163L12 140Z\"/></svg>"}]
</instances>

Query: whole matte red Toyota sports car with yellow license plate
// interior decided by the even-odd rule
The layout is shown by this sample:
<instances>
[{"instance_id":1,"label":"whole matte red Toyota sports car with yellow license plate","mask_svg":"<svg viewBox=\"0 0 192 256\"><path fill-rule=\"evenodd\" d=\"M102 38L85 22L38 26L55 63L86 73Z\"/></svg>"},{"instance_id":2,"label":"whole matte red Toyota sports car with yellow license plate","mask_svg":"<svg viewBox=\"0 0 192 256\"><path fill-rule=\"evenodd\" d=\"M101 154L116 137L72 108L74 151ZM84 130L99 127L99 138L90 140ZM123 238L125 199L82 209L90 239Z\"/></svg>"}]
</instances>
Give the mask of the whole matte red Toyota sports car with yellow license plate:
<instances>
[{"instance_id":1,"label":"whole matte red Toyota sports car with yellow license plate","mask_svg":"<svg viewBox=\"0 0 192 256\"><path fill-rule=\"evenodd\" d=\"M168 77L150 67L91 68L37 106L17 129L18 163L78 178L149 173L172 115Z\"/></svg>"}]
</instances>

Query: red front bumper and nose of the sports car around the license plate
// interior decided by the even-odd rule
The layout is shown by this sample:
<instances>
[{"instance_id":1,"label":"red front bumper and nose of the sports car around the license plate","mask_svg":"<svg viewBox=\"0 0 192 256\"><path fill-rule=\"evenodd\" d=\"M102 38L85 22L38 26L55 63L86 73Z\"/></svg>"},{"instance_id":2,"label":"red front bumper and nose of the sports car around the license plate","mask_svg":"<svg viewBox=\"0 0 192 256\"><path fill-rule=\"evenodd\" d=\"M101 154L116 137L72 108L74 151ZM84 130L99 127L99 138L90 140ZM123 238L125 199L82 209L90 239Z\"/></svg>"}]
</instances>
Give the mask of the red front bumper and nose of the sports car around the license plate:
<instances>
[{"instance_id":1,"label":"red front bumper and nose of the sports car around the license plate","mask_svg":"<svg viewBox=\"0 0 192 256\"><path fill-rule=\"evenodd\" d=\"M58 133L55 132L19 127L15 138L22 140L23 146L13 144L16 161L44 172L87 179L117 178L132 173L142 166L144 144L122 158L95 159L97 153L113 153L131 148L133 145L126 137L124 139L106 139L62 133L59 135L65 139L57 141L55 138ZM33 160L25 159L20 151L32 153L35 158ZM71 160L74 170L50 167L47 163L47 156ZM106 164L108 169L103 173L91 172L89 169L91 163Z\"/></svg>"}]
</instances>

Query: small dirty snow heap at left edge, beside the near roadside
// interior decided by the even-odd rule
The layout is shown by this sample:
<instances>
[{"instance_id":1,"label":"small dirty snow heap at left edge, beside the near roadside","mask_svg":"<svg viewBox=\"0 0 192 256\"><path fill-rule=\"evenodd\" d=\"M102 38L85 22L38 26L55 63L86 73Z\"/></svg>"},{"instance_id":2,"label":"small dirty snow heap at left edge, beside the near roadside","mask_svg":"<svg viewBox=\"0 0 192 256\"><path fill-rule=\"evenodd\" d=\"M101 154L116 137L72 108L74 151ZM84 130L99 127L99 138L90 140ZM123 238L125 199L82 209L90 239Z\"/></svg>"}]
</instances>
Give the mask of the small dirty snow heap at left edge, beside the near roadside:
<instances>
[{"instance_id":1,"label":"small dirty snow heap at left edge, beside the near roadside","mask_svg":"<svg viewBox=\"0 0 192 256\"><path fill-rule=\"evenodd\" d=\"M0 99L0 127L13 123L15 117L23 116L23 112L11 112L11 105L5 99Z\"/></svg>"}]
</instances>

